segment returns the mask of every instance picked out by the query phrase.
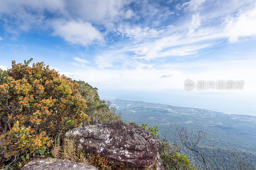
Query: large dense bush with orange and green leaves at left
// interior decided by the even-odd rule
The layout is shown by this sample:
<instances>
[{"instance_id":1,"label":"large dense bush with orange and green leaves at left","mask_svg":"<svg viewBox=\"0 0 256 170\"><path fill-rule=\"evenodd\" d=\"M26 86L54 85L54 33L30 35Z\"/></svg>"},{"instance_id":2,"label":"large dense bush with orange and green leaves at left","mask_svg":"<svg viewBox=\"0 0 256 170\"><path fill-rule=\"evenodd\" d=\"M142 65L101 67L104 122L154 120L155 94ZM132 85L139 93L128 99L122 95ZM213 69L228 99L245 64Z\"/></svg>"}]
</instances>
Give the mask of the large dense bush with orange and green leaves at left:
<instances>
[{"instance_id":1,"label":"large dense bush with orange and green leaves at left","mask_svg":"<svg viewBox=\"0 0 256 170\"><path fill-rule=\"evenodd\" d=\"M90 121L78 84L43 62L28 66L31 61L12 61L11 69L0 69L0 168L13 169L50 153L61 131Z\"/></svg>"}]
</instances>

